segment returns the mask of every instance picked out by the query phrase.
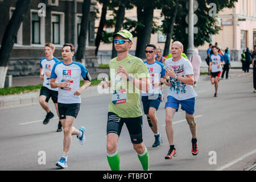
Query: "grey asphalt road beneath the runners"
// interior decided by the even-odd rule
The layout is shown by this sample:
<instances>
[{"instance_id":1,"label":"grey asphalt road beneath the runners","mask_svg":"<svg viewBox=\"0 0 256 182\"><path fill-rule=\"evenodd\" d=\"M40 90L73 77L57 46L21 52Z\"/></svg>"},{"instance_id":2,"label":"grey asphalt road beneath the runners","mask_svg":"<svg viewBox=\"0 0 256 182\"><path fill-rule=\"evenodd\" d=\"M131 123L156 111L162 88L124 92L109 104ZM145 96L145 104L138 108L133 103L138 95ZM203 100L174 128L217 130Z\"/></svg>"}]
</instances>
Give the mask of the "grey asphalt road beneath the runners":
<instances>
[{"instance_id":1,"label":"grey asphalt road beneath the runners","mask_svg":"<svg viewBox=\"0 0 256 182\"><path fill-rule=\"evenodd\" d=\"M185 113L174 117L177 156L164 159L169 145L165 132L164 103L157 112L163 145L152 148L154 135L143 115L143 140L150 156L150 170L243 170L256 162L256 93L252 73L232 70L230 80L221 80L219 97L208 76L202 76L195 88L199 154L191 154L191 133ZM166 93L167 86L164 87ZM166 94L165 94L166 95ZM109 95L82 98L80 113L74 126L85 126L86 143L73 136L68 168L63 170L110 170L106 159L106 119ZM55 114L54 106L50 108ZM48 125L39 104L0 109L0 170L56 170L63 154L63 132L56 133L58 119ZM118 143L122 170L142 170L130 142L126 126ZM43 155L42 155L43 154ZM42 164L46 156L46 164ZM216 158L214 158L216 157Z\"/></svg>"}]
</instances>

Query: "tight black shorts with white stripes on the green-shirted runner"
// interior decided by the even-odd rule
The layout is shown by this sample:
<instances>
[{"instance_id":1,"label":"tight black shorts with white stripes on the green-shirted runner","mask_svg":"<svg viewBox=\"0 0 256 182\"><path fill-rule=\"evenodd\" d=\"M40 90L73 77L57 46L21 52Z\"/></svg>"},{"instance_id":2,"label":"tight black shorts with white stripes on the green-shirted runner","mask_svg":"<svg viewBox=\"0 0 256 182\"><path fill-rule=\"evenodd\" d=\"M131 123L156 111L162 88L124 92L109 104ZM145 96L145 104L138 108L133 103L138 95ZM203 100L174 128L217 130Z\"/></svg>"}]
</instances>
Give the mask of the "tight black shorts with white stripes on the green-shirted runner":
<instances>
[{"instance_id":1,"label":"tight black shorts with white stripes on the green-shirted runner","mask_svg":"<svg viewBox=\"0 0 256 182\"><path fill-rule=\"evenodd\" d=\"M109 133L115 133L119 137L123 123L126 124L126 127L129 131L131 143L142 143L142 116L137 118L120 118L117 114L109 112L106 128L107 135Z\"/></svg>"}]
</instances>

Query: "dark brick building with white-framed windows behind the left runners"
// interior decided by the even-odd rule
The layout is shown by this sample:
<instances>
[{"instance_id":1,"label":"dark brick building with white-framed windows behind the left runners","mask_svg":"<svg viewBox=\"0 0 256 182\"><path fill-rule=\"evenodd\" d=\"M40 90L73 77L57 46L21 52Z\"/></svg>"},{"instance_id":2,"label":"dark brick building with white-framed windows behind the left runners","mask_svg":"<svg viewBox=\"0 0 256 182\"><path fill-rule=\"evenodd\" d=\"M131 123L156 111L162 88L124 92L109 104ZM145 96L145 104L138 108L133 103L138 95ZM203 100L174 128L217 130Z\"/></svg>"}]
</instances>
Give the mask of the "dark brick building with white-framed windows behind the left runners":
<instances>
[{"instance_id":1,"label":"dark brick building with white-framed windows behind the left runners","mask_svg":"<svg viewBox=\"0 0 256 182\"><path fill-rule=\"evenodd\" d=\"M2 40L17 0L0 0L0 39ZM44 57L44 44L55 44L54 56L61 60L64 43L73 43L81 26L83 0L33 0L20 24L10 55L7 75L39 75L39 60ZM92 1L86 40L86 67L94 69L94 19L96 0ZM88 59L87 59L88 58ZM97 62L97 61L96 61Z\"/></svg>"}]
</instances>

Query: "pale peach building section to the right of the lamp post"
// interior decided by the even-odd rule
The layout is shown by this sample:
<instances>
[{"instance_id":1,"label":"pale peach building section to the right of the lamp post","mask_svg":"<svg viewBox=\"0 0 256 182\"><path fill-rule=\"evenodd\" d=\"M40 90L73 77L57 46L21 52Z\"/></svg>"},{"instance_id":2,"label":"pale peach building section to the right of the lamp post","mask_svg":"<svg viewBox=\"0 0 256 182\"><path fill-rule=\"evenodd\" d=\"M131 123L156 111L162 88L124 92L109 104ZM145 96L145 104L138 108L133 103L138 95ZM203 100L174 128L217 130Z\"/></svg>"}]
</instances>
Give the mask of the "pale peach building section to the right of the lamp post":
<instances>
[{"instance_id":1,"label":"pale peach building section to the right of the lamp post","mask_svg":"<svg viewBox=\"0 0 256 182\"><path fill-rule=\"evenodd\" d=\"M212 43L218 43L224 52L228 47L233 61L241 60L241 53L247 47L250 50L256 45L256 1L238 0L233 9L223 9L217 15L221 27L219 34L212 36ZM207 56L209 43L198 47L202 58Z\"/></svg>"}]
</instances>

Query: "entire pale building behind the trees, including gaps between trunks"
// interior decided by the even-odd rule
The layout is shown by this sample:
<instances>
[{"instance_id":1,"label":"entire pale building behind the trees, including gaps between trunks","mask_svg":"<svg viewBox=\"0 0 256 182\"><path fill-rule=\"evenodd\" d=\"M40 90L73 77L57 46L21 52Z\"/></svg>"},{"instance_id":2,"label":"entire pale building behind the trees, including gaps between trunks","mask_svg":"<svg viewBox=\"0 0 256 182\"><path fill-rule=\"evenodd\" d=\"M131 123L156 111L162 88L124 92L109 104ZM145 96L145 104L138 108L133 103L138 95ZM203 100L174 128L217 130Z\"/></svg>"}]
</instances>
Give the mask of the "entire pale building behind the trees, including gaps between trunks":
<instances>
[{"instance_id":1,"label":"entire pale building behind the trees, including gaps between trunks","mask_svg":"<svg viewBox=\"0 0 256 182\"><path fill-rule=\"evenodd\" d=\"M101 10L100 5L99 10ZM108 11L107 17L111 16L113 12ZM161 25L163 17L160 16L161 10L154 10L154 21ZM127 18L137 20L136 7L132 10L126 10L125 16ZM221 30L218 34L212 35L212 43L218 43L222 51L228 47L230 49L230 57L234 61L241 60L241 52L246 47L250 50L254 49L256 45L256 0L238 0L233 9L223 9L217 14L216 19ZM96 26L99 19L96 20ZM109 28L109 32L113 32L114 28ZM130 49L131 54L135 54L137 38L134 38L133 46ZM155 44L156 47L164 49L165 36L159 31L151 35L150 43ZM195 47L199 49L202 60L207 57L206 50L209 43L205 42L203 46ZM110 44L101 43L98 55L111 56L112 46Z\"/></svg>"}]
</instances>

